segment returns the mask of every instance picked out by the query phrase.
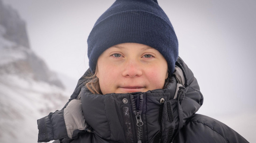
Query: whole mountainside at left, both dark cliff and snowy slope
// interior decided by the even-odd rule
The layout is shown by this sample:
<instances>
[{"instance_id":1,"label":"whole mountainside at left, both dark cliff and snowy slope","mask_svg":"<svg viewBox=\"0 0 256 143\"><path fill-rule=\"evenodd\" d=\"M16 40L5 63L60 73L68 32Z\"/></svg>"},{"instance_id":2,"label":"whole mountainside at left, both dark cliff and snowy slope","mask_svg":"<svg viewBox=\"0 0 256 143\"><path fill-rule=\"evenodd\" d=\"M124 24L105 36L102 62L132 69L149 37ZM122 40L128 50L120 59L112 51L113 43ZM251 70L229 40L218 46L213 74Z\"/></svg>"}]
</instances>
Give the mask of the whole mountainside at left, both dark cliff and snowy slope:
<instances>
[{"instance_id":1,"label":"whole mountainside at left, both dark cliff and snowy slope","mask_svg":"<svg viewBox=\"0 0 256 143\"><path fill-rule=\"evenodd\" d=\"M37 120L60 110L71 95L27 37L25 22L0 0L0 143L37 142Z\"/></svg>"}]
</instances>

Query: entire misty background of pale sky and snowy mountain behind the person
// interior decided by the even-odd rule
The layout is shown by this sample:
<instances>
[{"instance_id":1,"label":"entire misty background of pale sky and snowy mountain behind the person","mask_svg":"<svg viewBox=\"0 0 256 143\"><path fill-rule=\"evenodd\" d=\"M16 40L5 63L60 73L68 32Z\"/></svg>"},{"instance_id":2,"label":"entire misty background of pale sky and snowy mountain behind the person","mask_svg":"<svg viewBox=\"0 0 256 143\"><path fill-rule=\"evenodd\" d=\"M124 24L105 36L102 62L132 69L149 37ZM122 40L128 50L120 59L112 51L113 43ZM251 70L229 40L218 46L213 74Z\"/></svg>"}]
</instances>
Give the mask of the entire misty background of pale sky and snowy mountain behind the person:
<instances>
[{"instance_id":1,"label":"entire misty background of pale sky and snowy mountain behind the person","mask_svg":"<svg viewBox=\"0 0 256 143\"><path fill-rule=\"evenodd\" d=\"M88 34L113 2L0 0L0 143L37 142L37 120L68 101L88 68ZM204 96L197 113L255 142L256 2L158 3Z\"/></svg>"}]
</instances>

